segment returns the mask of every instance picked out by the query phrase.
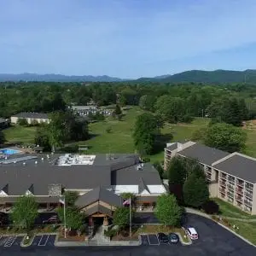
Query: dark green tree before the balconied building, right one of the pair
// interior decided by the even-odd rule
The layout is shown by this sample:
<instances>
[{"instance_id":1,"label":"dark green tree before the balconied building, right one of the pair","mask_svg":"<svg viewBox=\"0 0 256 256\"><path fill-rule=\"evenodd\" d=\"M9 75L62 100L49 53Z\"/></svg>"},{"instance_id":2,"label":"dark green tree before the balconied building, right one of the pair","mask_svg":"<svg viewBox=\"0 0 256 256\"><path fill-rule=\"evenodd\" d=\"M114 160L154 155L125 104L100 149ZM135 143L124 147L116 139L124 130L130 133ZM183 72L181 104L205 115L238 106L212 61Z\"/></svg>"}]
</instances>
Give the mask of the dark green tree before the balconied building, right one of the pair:
<instances>
[{"instance_id":1,"label":"dark green tree before the balconied building, right one of the pair","mask_svg":"<svg viewBox=\"0 0 256 256\"><path fill-rule=\"evenodd\" d=\"M209 200L209 189L205 177L189 173L183 185L183 200L189 207L199 208Z\"/></svg>"}]
</instances>

